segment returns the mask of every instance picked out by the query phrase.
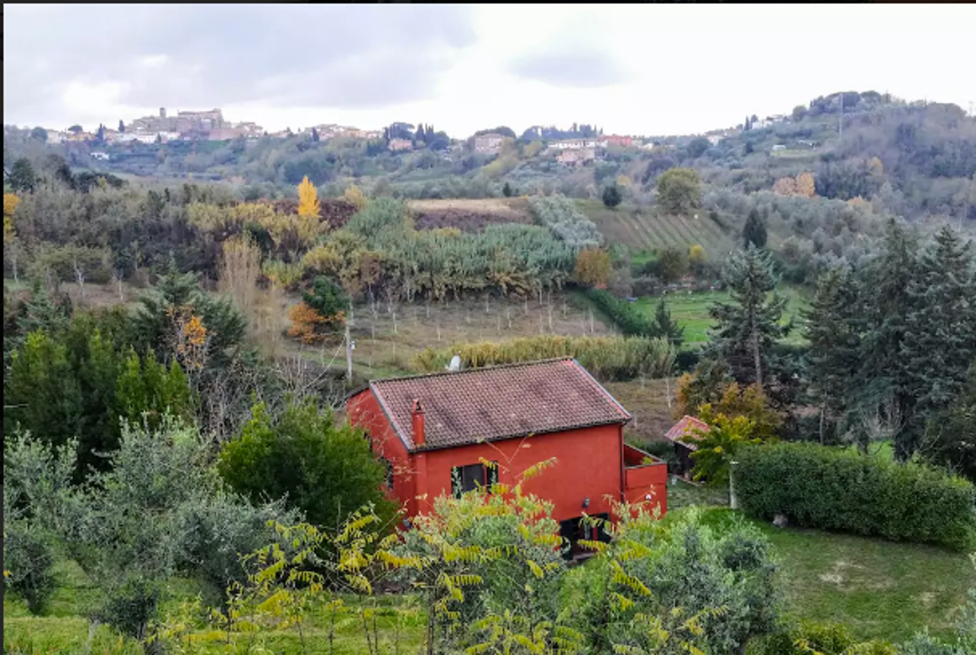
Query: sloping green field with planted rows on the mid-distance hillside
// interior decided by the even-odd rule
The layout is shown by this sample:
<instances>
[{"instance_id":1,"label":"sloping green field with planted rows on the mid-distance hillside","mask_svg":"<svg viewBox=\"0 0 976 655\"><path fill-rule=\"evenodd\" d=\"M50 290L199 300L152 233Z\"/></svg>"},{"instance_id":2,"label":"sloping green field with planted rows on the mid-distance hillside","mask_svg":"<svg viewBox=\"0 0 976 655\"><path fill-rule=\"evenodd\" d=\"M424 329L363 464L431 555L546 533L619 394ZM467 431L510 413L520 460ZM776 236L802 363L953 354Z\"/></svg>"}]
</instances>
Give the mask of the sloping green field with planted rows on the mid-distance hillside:
<instances>
[{"instance_id":1,"label":"sloping green field with planted rows on the mid-distance hillside","mask_svg":"<svg viewBox=\"0 0 976 655\"><path fill-rule=\"evenodd\" d=\"M623 244L631 252L669 246L687 250L700 244L706 253L718 257L730 250L734 240L702 211L694 216L659 215L655 208L620 205L609 209L595 200L578 200L581 212L596 224L610 244Z\"/></svg>"}]
</instances>

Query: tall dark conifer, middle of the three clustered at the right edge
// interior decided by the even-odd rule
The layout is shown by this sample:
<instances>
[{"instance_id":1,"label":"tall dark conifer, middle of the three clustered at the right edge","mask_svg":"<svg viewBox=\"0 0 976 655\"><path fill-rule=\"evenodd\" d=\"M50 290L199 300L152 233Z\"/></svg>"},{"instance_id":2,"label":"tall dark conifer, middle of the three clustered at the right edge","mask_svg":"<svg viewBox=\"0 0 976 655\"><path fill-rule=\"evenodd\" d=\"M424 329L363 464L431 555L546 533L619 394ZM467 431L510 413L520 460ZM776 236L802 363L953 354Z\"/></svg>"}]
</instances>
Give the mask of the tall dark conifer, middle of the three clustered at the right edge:
<instances>
[{"instance_id":1,"label":"tall dark conifer, middle of the three clustered at the right edge","mask_svg":"<svg viewBox=\"0 0 976 655\"><path fill-rule=\"evenodd\" d=\"M895 455L908 459L921 439L915 420L902 342L907 317L915 309L909 285L915 277L917 240L894 219L888 222L884 250L861 280L865 298L864 366L857 385L859 410L881 416L894 433Z\"/></svg>"}]
</instances>

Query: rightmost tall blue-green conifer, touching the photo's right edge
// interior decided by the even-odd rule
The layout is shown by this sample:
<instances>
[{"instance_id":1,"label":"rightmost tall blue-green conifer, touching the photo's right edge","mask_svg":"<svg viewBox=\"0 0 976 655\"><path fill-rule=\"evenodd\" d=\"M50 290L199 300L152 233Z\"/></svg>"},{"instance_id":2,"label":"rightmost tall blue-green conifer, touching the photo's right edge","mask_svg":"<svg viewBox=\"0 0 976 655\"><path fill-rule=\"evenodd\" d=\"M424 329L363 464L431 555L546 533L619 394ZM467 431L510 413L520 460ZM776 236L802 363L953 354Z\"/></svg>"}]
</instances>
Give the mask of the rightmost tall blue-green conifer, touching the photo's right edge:
<instances>
[{"instance_id":1,"label":"rightmost tall blue-green conifer, touching the photo's right edge","mask_svg":"<svg viewBox=\"0 0 976 655\"><path fill-rule=\"evenodd\" d=\"M900 352L919 424L951 405L976 359L976 281L969 244L943 227L909 281L912 310Z\"/></svg>"}]
</instances>

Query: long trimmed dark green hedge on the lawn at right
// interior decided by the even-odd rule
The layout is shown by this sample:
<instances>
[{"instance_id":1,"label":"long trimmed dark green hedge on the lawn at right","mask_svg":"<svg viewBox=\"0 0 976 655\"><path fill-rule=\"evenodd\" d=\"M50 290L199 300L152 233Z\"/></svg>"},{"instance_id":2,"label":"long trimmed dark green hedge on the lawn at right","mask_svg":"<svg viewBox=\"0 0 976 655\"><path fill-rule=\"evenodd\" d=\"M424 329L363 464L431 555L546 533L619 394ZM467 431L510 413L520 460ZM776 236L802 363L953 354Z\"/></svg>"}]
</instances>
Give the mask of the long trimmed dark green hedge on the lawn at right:
<instances>
[{"instance_id":1,"label":"long trimmed dark green hedge on the lawn at right","mask_svg":"<svg viewBox=\"0 0 976 655\"><path fill-rule=\"evenodd\" d=\"M736 494L752 516L963 550L976 535L976 487L915 463L814 443L749 448Z\"/></svg>"}]
</instances>

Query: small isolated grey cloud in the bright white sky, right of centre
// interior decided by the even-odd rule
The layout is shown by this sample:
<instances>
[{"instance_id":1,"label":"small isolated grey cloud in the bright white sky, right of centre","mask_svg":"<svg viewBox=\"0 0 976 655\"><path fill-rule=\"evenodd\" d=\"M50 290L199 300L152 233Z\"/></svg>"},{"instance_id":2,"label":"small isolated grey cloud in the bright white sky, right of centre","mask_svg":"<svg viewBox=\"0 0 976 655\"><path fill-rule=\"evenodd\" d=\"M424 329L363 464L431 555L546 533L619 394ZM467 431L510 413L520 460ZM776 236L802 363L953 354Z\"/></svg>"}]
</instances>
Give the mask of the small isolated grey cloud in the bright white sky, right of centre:
<instances>
[{"instance_id":1,"label":"small isolated grey cloud in the bright white sky, right of centre","mask_svg":"<svg viewBox=\"0 0 976 655\"><path fill-rule=\"evenodd\" d=\"M508 64L508 72L556 87L606 87L632 79L617 59L595 49L527 55Z\"/></svg>"}]
</instances>

